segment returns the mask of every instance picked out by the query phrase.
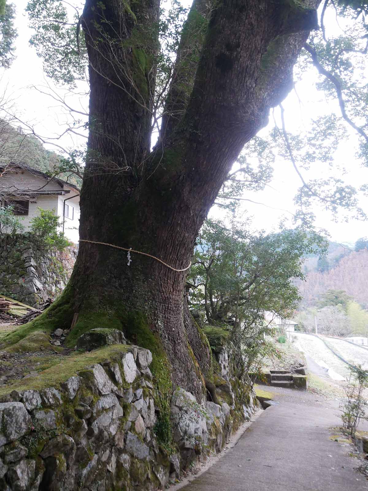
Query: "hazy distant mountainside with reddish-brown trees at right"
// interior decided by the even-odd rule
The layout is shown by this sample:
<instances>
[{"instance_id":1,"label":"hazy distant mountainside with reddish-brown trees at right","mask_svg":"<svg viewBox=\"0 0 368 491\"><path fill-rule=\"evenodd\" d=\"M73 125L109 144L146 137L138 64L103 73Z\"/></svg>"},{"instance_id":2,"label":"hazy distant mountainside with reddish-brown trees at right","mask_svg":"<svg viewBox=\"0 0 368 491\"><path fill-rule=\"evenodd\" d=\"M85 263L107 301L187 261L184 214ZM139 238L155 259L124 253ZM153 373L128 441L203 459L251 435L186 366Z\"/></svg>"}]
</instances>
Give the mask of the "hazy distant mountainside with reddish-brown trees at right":
<instances>
[{"instance_id":1,"label":"hazy distant mountainside with reddish-brown trees at right","mask_svg":"<svg viewBox=\"0 0 368 491\"><path fill-rule=\"evenodd\" d=\"M368 250L347 252L332 243L327 255L328 269L317 271L318 258L308 258L306 281L295 281L303 297L302 307L315 305L327 290L345 290L348 295L368 308ZM313 261L312 261L313 260Z\"/></svg>"}]
</instances>

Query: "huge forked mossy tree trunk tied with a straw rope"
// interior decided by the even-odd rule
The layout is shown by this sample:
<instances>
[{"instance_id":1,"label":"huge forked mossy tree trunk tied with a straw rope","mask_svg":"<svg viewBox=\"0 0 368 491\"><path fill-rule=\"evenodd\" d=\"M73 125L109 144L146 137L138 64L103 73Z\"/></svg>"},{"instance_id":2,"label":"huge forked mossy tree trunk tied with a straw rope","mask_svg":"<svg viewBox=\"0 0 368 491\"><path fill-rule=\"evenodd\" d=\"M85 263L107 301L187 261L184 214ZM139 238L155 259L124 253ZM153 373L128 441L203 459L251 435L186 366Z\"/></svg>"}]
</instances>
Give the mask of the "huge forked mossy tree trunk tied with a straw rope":
<instances>
[{"instance_id":1,"label":"huge forked mossy tree trunk tied with a straw rope","mask_svg":"<svg viewBox=\"0 0 368 491\"><path fill-rule=\"evenodd\" d=\"M32 3L33 12L45 7ZM159 1L86 0L76 29L90 82L82 242L67 288L32 328L73 326L70 345L93 327L123 328L152 349L175 385L200 396L210 352L188 312L186 273L177 270L188 267L239 152L292 88L319 3L194 0L165 79ZM157 93L164 103L151 150ZM83 241L154 258L131 252L128 265L126 251Z\"/></svg>"}]
</instances>

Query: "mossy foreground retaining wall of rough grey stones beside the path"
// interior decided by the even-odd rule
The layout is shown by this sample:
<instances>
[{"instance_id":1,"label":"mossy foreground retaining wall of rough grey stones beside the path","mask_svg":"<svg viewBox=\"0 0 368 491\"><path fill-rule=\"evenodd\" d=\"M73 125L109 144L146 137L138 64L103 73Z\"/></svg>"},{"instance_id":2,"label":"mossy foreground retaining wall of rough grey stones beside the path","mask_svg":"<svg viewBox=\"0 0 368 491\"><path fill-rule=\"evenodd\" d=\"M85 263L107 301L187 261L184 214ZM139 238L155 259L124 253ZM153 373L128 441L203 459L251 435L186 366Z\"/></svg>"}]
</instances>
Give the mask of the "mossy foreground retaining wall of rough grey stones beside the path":
<instances>
[{"instance_id":1,"label":"mossy foreground retaining wall of rough grey stones beside the path","mask_svg":"<svg viewBox=\"0 0 368 491\"><path fill-rule=\"evenodd\" d=\"M173 442L162 448L151 361L149 350L122 345L111 359L59 386L2 396L0 490L163 489L181 469L221 451L255 409L252 395L239 413L236 402L198 404L178 388L171 405Z\"/></svg>"}]
</instances>

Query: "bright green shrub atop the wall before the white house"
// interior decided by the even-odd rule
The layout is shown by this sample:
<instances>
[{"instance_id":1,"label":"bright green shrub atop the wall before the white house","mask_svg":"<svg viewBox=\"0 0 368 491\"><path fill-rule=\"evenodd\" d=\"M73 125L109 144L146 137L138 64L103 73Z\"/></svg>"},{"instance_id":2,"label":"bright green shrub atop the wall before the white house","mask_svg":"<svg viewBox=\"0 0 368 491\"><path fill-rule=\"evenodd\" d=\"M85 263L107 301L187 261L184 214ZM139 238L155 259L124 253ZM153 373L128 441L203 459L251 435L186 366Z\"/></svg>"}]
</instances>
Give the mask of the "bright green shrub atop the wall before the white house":
<instances>
[{"instance_id":1,"label":"bright green shrub atop the wall before the white house","mask_svg":"<svg viewBox=\"0 0 368 491\"><path fill-rule=\"evenodd\" d=\"M59 232L57 227L63 222L55 215L55 210L43 210L38 208L40 214L30 220L29 232L49 247L56 247L58 250L63 250L65 247L71 246L71 242L66 239L63 232Z\"/></svg>"}]
</instances>

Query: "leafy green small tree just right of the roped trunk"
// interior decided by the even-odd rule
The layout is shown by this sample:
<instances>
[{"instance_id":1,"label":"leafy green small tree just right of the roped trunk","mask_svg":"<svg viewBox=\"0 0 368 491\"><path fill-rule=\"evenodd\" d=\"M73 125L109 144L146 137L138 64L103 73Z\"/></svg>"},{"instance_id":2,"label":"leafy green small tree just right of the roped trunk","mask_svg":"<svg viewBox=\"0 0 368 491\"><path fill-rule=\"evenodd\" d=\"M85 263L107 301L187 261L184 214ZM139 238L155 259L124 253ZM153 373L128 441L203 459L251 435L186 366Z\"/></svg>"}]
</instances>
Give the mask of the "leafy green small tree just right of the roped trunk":
<instances>
[{"instance_id":1,"label":"leafy green small tree just right of the roped trunk","mask_svg":"<svg viewBox=\"0 0 368 491\"><path fill-rule=\"evenodd\" d=\"M305 254L322 250L319 236L300 230L265 235L246 224L206 221L196 241L187 277L189 303L206 313L209 324L263 325L264 311L288 316L300 301L292 280L304 279Z\"/></svg>"}]
</instances>

